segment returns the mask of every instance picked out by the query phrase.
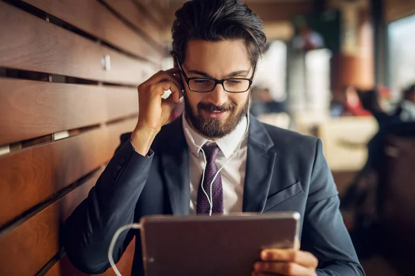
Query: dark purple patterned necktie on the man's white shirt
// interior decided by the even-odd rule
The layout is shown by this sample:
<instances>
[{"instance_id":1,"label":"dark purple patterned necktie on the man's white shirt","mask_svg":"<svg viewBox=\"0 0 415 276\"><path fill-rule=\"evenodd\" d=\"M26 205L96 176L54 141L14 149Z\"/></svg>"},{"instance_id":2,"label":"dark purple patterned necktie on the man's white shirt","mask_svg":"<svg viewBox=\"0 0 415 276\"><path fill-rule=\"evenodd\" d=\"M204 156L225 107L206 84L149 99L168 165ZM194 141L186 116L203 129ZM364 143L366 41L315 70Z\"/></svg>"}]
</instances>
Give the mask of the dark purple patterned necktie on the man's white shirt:
<instances>
[{"instance_id":1,"label":"dark purple patterned necktie on the man's white shirt","mask_svg":"<svg viewBox=\"0 0 415 276\"><path fill-rule=\"evenodd\" d=\"M208 197L210 199L210 184L213 181L213 177L218 172L219 168L216 166L216 157L219 153L219 148L214 144L213 146L203 146L203 151L206 155L206 168L205 168L205 179L203 184L199 185L199 190L197 191L197 205L196 205L196 214L209 214L210 204ZM201 179L202 181L202 179ZM202 190L205 189L206 194ZM223 214L223 188L222 188L222 178L219 173L212 184L212 213Z\"/></svg>"}]
</instances>

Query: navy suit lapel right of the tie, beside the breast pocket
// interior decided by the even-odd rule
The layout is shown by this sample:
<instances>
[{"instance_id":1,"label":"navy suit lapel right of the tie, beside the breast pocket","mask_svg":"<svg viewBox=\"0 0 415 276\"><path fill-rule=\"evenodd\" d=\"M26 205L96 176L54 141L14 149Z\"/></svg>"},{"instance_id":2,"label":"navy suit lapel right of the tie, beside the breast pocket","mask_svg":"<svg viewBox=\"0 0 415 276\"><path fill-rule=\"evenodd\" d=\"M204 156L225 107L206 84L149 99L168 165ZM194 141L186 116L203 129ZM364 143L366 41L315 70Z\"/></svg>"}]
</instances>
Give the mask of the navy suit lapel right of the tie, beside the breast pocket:
<instances>
[{"instance_id":1,"label":"navy suit lapel right of the tie, beside the breast pocket","mask_svg":"<svg viewBox=\"0 0 415 276\"><path fill-rule=\"evenodd\" d=\"M255 117L250 116L246 177L243 188L243 212L262 212L273 177L275 152L268 132Z\"/></svg>"}]
</instances>

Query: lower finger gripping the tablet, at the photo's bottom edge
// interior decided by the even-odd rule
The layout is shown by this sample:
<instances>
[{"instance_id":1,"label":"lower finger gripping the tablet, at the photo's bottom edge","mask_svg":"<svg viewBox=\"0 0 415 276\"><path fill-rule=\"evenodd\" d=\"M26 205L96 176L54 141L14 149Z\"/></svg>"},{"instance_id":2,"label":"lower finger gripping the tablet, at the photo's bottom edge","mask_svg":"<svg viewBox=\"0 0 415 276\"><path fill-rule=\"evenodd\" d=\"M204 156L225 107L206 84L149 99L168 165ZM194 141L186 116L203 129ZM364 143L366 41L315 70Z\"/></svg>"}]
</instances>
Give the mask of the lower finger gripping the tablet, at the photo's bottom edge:
<instances>
[{"instance_id":1,"label":"lower finger gripping the tablet, at the photo's bottom edge","mask_svg":"<svg viewBox=\"0 0 415 276\"><path fill-rule=\"evenodd\" d=\"M292 262L257 262L255 272L288 276L315 276L315 270Z\"/></svg>"}]
</instances>

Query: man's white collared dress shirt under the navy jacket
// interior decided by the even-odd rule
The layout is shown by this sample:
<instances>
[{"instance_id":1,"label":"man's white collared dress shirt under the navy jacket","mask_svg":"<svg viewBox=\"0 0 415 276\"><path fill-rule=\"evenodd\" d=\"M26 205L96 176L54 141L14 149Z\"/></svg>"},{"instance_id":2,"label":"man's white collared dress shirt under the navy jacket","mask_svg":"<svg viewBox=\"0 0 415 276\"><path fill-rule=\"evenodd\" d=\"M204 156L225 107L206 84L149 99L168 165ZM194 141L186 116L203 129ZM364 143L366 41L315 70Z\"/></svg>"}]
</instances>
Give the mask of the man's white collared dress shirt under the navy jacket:
<instances>
[{"instance_id":1,"label":"man's white collared dress shirt under the navy jacket","mask_svg":"<svg viewBox=\"0 0 415 276\"><path fill-rule=\"evenodd\" d=\"M223 213L239 213L242 212L243 201L243 184L246 174L246 156L248 152L248 120L243 117L229 135L210 141L201 136L196 130L190 126L185 119L183 112L183 131L188 145L189 152L189 168L190 168L190 214L196 213L197 192L205 168L205 160L203 152L194 144L202 147L205 144L215 143L220 151L216 157L216 166L222 168L220 174L223 186ZM188 133L185 131L188 130ZM194 144L189 135L194 139ZM241 148L239 148L241 145ZM239 150L238 150L239 149ZM236 153L235 153L236 152ZM232 159L230 159L232 158ZM228 161L230 159L230 161ZM228 163L226 163L228 161ZM225 164L226 163L226 164Z\"/></svg>"}]
</instances>

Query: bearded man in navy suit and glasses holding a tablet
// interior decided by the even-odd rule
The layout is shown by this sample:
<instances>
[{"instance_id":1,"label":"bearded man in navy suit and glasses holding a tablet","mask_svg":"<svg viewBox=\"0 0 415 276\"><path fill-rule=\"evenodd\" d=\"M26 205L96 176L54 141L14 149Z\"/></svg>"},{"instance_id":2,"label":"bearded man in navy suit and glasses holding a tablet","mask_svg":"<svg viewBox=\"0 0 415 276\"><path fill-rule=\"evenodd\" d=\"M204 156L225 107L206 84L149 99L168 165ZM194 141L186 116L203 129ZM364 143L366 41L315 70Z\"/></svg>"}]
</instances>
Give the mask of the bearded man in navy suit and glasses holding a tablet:
<instances>
[{"instance_id":1,"label":"bearded man in navy suit and glasses holding a tablet","mask_svg":"<svg viewBox=\"0 0 415 276\"><path fill-rule=\"evenodd\" d=\"M266 43L259 17L240 0L188 1L172 34L175 68L138 87L136 128L122 135L66 221L73 264L87 273L107 270L113 234L143 215L290 210L302 216L302 250L264 250L252 275L364 275L320 140L248 120L249 88ZM168 99L165 90L172 91ZM185 115L163 126L182 95ZM204 192L211 184L210 198ZM114 259L133 235L132 274L142 275L140 233L121 235Z\"/></svg>"}]
</instances>

